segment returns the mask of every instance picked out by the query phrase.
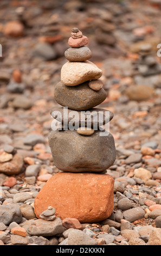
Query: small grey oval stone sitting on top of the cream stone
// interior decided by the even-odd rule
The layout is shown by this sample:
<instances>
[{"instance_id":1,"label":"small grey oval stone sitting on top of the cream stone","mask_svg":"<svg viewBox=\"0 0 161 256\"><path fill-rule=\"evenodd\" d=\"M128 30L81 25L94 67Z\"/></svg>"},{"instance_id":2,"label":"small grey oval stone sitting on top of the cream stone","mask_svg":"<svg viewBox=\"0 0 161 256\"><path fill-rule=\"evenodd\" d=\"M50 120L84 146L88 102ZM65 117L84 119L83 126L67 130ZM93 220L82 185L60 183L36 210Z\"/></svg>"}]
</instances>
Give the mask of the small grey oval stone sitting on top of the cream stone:
<instances>
[{"instance_id":1,"label":"small grey oval stone sitting on top of the cream stone","mask_svg":"<svg viewBox=\"0 0 161 256\"><path fill-rule=\"evenodd\" d=\"M65 51L65 57L70 62L83 62L92 57L92 52L86 46L82 46L79 48L71 47Z\"/></svg>"}]
</instances>

